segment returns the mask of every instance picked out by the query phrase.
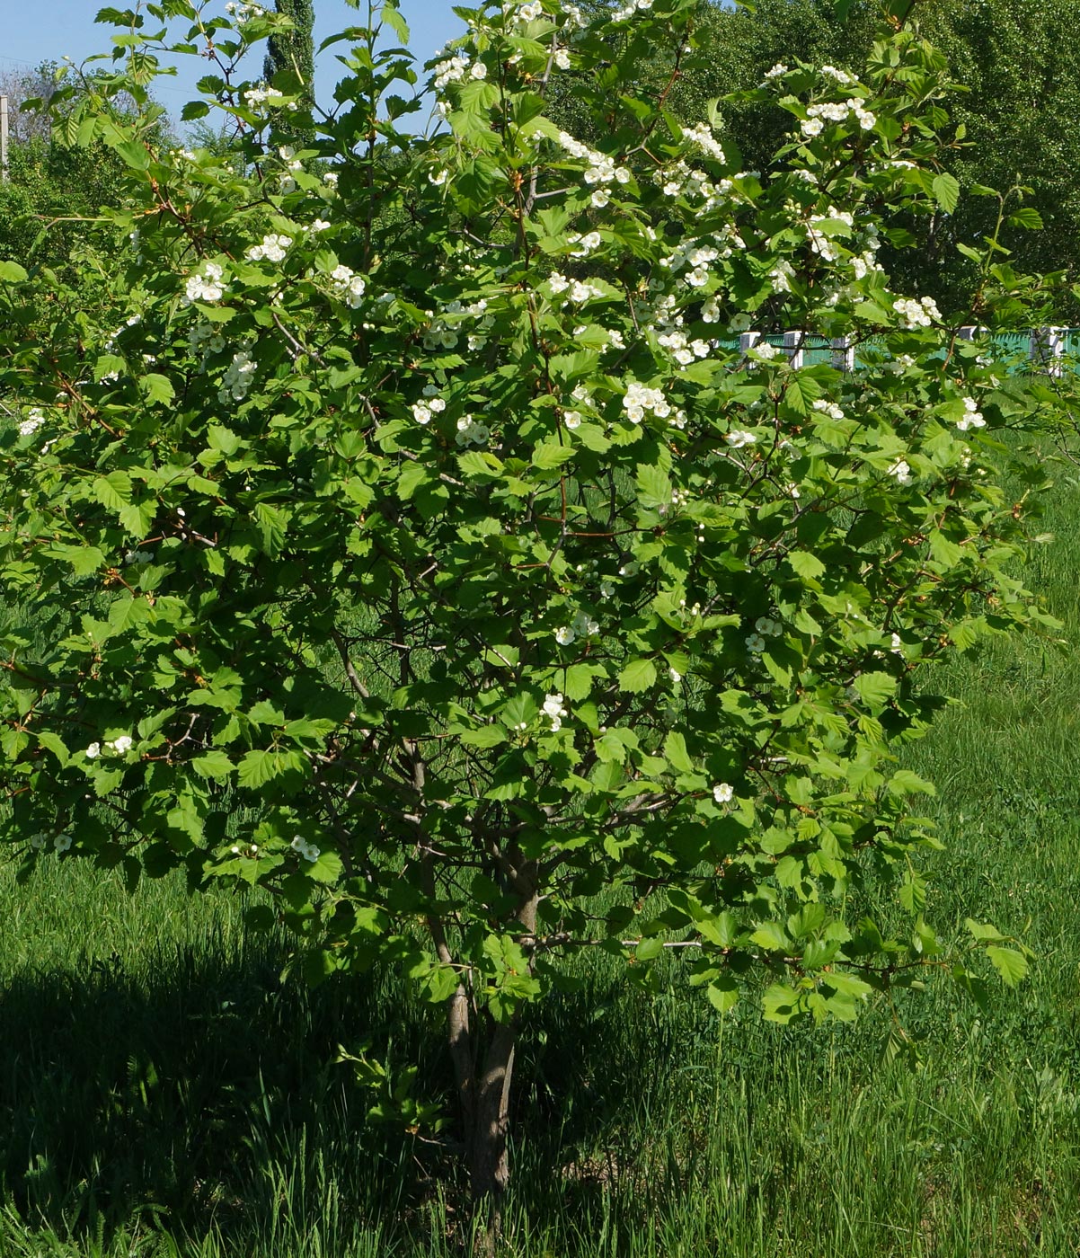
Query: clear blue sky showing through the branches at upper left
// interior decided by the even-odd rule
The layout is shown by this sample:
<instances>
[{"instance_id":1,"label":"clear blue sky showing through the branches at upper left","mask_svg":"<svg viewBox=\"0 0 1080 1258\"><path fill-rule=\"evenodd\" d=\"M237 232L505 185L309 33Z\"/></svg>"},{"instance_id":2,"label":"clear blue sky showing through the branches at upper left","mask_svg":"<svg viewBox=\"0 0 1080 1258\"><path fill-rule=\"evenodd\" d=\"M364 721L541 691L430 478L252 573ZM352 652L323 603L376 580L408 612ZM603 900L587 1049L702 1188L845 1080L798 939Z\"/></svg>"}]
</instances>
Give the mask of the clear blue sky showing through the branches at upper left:
<instances>
[{"instance_id":1,"label":"clear blue sky showing through the branches at upper left","mask_svg":"<svg viewBox=\"0 0 1080 1258\"><path fill-rule=\"evenodd\" d=\"M79 62L112 47L111 26L96 25L94 15L104 4L128 8L133 0L0 0L0 70L19 70L43 60L72 57ZM273 0L263 0L272 4ZM224 0L215 0L224 8ZM363 6L365 11L367 6ZM344 26L357 25L360 13L346 0L314 0L316 47L319 40ZM411 47L421 62L458 35L464 24L456 18L450 0L401 0L401 13L411 30ZM316 83L327 91L337 78L336 49L323 53L316 68ZM194 94L195 82L206 73L206 63L195 57L177 58L176 78L158 81L158 99L174 114ZM253 65L251 77L258 77Z\"/></svg>"}]
</instances>

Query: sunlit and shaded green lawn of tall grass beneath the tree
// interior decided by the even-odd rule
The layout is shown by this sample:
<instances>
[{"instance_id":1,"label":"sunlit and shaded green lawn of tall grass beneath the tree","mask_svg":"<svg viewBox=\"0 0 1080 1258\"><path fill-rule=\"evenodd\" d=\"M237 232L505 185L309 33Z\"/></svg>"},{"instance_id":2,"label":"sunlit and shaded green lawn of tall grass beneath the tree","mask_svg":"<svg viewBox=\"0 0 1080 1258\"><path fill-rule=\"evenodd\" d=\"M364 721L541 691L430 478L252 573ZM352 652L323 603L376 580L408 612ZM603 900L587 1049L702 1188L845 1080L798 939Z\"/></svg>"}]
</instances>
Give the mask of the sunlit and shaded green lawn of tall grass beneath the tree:
<instances>
[{"instance_id":1,"label":"sunlit and shaded green lawn of tall grass beneath the tree","mask_svg":"<svg viewBox=\"0 0 1080 1258\"><path fill-rule=\"evenodd\" d=\"M1026 930L983 1013L940 984L904 1010L924 1066L854 1028L722 1023L602 959L538 1011L518 1066L508 1252L528 1258L1080 1254L1080 488L1047 507L1031 580L1065 650L949 667L915 752L939 788L929 913ZM446 1088L438 1018L392 975L279 982L280 940L174 881L0 871L0 1255L434 1258L460 1253L436 1149L366 1123L337 1044L372 1037ZM388 1045L388 1047L387 1047Z\"/></svg>"}]
</instances>

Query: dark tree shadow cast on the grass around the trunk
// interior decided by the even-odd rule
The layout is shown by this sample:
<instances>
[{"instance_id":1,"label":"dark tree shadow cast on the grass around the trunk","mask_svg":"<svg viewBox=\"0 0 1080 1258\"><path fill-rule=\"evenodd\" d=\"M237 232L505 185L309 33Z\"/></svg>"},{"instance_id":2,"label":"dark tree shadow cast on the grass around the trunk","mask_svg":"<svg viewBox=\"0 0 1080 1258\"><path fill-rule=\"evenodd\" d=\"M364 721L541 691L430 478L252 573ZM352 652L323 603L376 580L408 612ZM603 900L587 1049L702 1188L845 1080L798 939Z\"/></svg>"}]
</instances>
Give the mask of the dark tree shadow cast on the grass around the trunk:
<instances>
[{"instance_id":1,"label":"dark tree shadow cast on the grass around the trunk","mask_svg":"<svg viewBox=\"0 0 1080 1258\"><path fill-rule=\"evenodd\" d=\"M282 984L285 959L259 940L176 949L138 972L113 955L16 976L0 993L3 1199L62 1237L108 1242L142 1219L215 1232L226 1253L300 1235L328 1210L377 1232L386 1253L427 1252L436 1222L443 1240L460 1239L453 1156L367 1121L375 1098L334 1062L339 1044L371 1042L380 1060L416 1063L421 1098L443 1098L453 1120L441 1011L390 977ZM593 1218L612 1193L640 1190L622 1180L640 1152L632 1130L686 1034L650 1008L644 993L615 1008L592 986L526 1033L514 1094L526 1214Z\"/></svg>"}]
</instances>

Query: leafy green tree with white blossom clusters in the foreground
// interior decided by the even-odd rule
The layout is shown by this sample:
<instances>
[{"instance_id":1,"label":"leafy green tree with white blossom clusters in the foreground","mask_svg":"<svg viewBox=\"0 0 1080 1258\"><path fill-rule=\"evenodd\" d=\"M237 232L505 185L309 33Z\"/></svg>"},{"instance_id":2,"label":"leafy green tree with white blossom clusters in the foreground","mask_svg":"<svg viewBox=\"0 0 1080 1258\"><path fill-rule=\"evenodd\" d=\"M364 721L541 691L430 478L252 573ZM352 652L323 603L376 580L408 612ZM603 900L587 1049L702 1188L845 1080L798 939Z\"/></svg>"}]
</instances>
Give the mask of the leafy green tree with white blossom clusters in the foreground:
<instances>
[{"instance_id":1,"label":"leafy green tree with white blossom clusters in the foreground","mask_svg":"<svg viewBox=\"0 0 1080 1258\"><path fill-rule=\"evenodd\" d=\"M761 974L776 1021L937 970L981 991L923 916L932 788L896 749L920 662L1040 620L997 434L1050 395L954 336L1023 286L987 260L948 320L876 262L890 215L957 195L914 34L864 79L771 72L766 179L665 111L693 15L484 5L416 137L386 4L294 152L288 84L238 69L279 19L107 11L126 68L78 135L129 170L109 316L0 263L6 842L264 888L314 979L400 966L445 1005L478 1196L526 1010L582 947L647 984L693 945L719 1010ZM186 114L230 116L243 162L111 109L171 38L145 19L216 63ZM544 112L567 67L597 147ZM787 330L860 369L737 336Z\"/></svg>"}]
</instances>

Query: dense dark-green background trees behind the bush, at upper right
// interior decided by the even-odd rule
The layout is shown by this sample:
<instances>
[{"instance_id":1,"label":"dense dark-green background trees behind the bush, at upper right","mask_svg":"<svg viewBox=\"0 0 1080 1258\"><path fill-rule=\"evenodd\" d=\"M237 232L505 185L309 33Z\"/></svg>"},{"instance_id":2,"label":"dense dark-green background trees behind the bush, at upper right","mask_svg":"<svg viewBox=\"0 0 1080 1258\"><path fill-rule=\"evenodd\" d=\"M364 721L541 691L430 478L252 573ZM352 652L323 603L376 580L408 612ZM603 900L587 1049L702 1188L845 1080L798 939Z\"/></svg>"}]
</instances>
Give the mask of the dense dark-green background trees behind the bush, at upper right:
<instances>
[{"instance_id":1,"label":"dense dark-green background trees behind the bush, at upper right","mask_svg":"<svg viewBox=\"0 0 1080 1258\"><path fill-rule=\"evenodd\" d=\"M795 59L856 68L871 47L879 14L876 0L855 0L845 19L834 0L709 6L700 19L708 57L688 69L693 91L725 96L752 89L772 65ZM1028 185L1027 210L1036 211L1045 230L1010 242L1015 264L1080 278L1080 133L1072 125L1080 111L1080 3L917 0L913 20L963 87L951 112L966 136L943 155L944 169L964 189ZM783 112L729 101L723 114L747 166L767 176L786 126ZM974 274L956 244L991 234L996 214L993 200L968 196L949 211L913 221L919 252L893 255L890 264L906 284L953 304ZM1055 317L1080 321L1080 303L1067 289Z\"/></svg>"}]
</instances>

